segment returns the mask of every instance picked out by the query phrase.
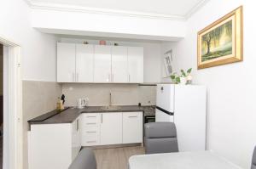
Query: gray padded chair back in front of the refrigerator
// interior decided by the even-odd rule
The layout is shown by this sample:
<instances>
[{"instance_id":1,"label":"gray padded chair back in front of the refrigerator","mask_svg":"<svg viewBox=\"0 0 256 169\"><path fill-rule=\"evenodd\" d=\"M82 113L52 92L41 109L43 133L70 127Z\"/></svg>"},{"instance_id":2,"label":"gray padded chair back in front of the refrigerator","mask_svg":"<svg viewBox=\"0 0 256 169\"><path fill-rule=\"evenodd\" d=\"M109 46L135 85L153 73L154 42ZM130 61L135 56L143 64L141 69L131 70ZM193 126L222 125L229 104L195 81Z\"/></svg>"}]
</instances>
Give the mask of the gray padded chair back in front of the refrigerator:
<instances>
[{"instance_id":1,"label":"gray padded chair back in front of the refrigerator","mask_svg":"<svg viewBox=\"0 0 256 169\"><path fill-rule=\"evenodd\" d=\"M177 132L173 122L150 122L145 124L146 154L178 152Z\"/></svg>"}]
</instances>

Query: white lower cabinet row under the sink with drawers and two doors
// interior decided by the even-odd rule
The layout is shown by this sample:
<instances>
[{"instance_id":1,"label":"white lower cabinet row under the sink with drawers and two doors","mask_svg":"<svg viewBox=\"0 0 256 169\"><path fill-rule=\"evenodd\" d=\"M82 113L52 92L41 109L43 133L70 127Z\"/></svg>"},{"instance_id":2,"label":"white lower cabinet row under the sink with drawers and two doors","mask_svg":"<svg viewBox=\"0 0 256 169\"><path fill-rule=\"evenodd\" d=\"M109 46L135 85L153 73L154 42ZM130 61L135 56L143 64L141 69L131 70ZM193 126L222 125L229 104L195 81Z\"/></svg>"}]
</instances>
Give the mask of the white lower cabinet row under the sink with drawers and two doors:
<instances>
[{"instance_id":1,"label":"white lower cabinet row under the sink with drawers and two doors","mask_svg":"<svg viewBox=\"0 0 256 169\"><path fill-rule=\"evenodd\" d=\"M143 112L84 113L82 146L143 143Z\"/></svg>"}]
</instances>

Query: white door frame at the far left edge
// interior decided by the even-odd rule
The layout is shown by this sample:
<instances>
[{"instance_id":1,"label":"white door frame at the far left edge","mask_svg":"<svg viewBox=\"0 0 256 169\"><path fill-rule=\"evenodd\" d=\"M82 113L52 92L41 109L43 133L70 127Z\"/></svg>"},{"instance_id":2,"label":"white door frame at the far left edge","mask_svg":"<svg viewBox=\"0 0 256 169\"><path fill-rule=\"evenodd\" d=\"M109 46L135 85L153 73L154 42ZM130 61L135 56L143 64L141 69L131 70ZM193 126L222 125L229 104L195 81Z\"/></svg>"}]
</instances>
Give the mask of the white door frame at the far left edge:
<instances>
[{"instance_id":1,"label":"white door frame at the far left edge","mask_svg":"<svg viewBox=\"0 0 256 169\"><path fill-rule=\"evenodd\" d=\"M0 36L0 43L9 48L8 53L8 128L9 169L23 167L23 125L22 125L22 74L20 45L12 40ZM5 113L3 112L3 115ZM4 125L4 121L3 121ZM3 131L4 138L4 131ZM3 144L4 146L4 144Z\"/></svg>"}]
</instances>

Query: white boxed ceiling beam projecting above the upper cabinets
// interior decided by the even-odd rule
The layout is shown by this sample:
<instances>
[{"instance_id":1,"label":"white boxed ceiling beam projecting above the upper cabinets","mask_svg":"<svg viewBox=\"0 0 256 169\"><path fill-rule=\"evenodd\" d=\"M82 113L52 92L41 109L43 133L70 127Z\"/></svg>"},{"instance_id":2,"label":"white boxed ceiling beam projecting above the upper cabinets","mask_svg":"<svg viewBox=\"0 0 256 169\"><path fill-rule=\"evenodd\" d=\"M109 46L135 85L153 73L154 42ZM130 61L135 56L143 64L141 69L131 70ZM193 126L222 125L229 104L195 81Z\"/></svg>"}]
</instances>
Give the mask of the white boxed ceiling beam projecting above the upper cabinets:
<instances>
[{"instance_id":1,"label":"white boxed ceiling beam projecting above the upper cabinets","mask_svg":"<svg viewBox=\"0 0 256 169\"><path fill-rule=\"evenodd\" d=\"M32 27L57 34L135 39L172 40L185 35L185 21L113 14L93 14L75 9L33 8Z\"/></svg>"}]
</instances>

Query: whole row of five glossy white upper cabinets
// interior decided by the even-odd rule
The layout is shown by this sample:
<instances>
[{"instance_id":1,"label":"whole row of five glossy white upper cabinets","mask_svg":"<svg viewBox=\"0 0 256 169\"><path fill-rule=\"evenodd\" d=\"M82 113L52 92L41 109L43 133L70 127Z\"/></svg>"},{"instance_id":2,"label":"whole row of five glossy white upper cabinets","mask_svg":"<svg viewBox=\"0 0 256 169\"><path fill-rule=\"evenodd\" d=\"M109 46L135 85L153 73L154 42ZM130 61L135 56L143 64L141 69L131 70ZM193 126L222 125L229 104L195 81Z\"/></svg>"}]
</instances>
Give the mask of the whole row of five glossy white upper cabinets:
<instances>
[{"instance_id":1,"label":"whole row of five glossy white upper cabinets","mask_svg":"<svg viewBox=\"0 0 256 169\"><path fill-rule=\"evenodd\" d=\"M143 83L143 48L59 42L57 82Z\"/></svg>"}]
</instances>

